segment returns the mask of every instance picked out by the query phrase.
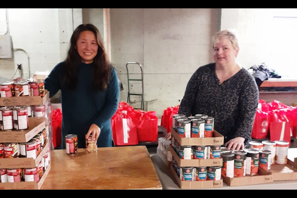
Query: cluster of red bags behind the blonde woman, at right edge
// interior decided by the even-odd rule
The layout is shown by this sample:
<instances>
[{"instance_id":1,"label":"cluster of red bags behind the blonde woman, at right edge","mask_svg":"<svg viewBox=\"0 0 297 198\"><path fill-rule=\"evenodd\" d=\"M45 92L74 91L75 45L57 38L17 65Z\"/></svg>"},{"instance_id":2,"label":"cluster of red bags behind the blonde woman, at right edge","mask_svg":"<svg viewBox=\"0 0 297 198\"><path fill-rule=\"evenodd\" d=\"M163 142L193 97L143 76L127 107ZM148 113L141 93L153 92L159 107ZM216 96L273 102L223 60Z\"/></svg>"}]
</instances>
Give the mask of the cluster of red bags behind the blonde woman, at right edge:
<instances>
[{"instance_id":1,"label":"cluster of red bags behind the blonde woman, at right edge","mask_svg":"<svg viewBox=\"0 0 297 198\"><path fill-rule=\"evenodd\" d=\"M297 107L287 106L273 100L266 103L259 100L252 138L284 140L291 142L291 137L297 137Z\"/></svg>"}]
</instances>

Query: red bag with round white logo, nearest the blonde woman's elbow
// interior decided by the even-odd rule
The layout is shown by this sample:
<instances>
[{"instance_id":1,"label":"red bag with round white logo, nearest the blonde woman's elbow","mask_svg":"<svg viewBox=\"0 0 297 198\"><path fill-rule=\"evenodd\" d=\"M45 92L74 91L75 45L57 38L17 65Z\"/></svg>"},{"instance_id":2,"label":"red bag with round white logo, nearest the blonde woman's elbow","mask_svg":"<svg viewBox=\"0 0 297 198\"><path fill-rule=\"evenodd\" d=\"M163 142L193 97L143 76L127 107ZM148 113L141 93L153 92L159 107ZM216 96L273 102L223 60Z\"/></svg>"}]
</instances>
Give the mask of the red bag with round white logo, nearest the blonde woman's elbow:
<instances>
[{"instance_id":1,"label":"red bag with round white logo, nearest the blonde woman's elbow","mask_svg":"<svg viewBox=\"0 0 297 198\"><path fill-rule=\"evenodd\" d=\"M255 121L252 128L252 138L263 139L268 135L269 120L268 113L262 112L259 108L256 111Z\"/></svg>"}]
</instances>

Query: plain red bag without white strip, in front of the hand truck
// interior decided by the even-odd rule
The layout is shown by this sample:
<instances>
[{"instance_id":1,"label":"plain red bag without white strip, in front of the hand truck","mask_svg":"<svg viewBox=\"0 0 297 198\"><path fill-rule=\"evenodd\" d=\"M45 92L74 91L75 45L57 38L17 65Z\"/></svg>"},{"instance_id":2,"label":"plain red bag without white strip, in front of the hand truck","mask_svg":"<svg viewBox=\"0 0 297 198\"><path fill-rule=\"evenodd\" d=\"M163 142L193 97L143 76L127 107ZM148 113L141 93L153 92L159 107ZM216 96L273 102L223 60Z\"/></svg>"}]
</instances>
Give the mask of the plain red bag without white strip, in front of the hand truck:
<instances>
[{"instance_id":1,"label":"plain red bag without white strip, in front of the hand truck","mask_svg":"<svg viewBox=\"0 0 297 198\"><path fill-rule=\"evenodd\" d=\"M154 142L158 136L158 117L155 111L143 112L137 123L139 142Z\"/></svg>"}]
</instances>

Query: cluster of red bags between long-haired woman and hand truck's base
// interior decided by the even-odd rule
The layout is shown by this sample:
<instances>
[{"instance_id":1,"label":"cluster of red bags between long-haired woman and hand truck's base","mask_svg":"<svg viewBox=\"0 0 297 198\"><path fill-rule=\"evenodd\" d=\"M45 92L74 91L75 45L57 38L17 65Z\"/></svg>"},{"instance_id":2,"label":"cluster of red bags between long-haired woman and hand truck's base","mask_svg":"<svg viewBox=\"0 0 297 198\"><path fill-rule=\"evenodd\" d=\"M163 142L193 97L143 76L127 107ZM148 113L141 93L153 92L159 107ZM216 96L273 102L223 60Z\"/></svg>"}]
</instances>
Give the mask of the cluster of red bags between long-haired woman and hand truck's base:
<instances>
[{"instance_id":1,"label":"cluster of red bags between long-haired woman and hand truck's base","mask_svg":"<svg viewBox=\"0 0 297 198\"><path fill-rule=\"evenodd\" d=\"M134 110L121 101L111 118L114 144L136 145L139 142L154 142L158 136L158 117L155 111Z\"/></svg>"}]
</instances>

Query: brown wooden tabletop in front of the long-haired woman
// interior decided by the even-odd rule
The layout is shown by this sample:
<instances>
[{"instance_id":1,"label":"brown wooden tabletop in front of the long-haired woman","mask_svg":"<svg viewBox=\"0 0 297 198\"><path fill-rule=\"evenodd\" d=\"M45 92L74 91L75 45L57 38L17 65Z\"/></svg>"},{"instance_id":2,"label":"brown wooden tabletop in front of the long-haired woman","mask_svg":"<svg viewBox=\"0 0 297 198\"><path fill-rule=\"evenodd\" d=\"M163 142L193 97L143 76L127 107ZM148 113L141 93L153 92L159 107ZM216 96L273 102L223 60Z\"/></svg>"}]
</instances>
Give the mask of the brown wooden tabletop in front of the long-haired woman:
<instances>
[{"instance_id":1,"label":"brown wooden tabletop in front of the long-haired woman","mask_svg":"<svg viewBox=\"0 0 297 198\"><path fill-rule=\"evenodd\" d=\"M162 189L145 146L98 148L77 154L53 150L41 189Z\"/></svg>"}]
</instances>

